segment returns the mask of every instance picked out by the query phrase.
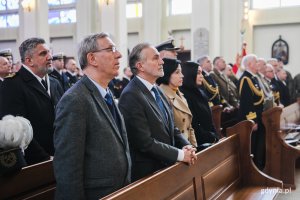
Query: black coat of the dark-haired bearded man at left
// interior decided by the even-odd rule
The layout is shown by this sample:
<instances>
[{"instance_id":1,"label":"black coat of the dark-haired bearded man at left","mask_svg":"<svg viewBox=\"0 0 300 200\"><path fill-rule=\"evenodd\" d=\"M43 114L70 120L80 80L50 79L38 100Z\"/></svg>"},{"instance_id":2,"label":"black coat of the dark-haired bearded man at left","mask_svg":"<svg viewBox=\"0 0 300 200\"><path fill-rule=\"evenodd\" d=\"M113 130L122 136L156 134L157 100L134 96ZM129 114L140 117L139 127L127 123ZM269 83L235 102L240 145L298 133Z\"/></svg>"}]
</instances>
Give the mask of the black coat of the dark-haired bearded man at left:
<instances>
[{"instance_id":1,"label":"black coat of the dark-haired bearded man at left","mask_svg":"<svg viewBox=\"0 0 300 200\"><path fill-rule=\"evenodd\" d=\"M22 116L32 125L33 141L25 150L27 163L47 160L54 154L54 104L47 91L22 67L15 76L6 78L0 94L1 118L8 114Z\"/></svg>"}]
</instances>

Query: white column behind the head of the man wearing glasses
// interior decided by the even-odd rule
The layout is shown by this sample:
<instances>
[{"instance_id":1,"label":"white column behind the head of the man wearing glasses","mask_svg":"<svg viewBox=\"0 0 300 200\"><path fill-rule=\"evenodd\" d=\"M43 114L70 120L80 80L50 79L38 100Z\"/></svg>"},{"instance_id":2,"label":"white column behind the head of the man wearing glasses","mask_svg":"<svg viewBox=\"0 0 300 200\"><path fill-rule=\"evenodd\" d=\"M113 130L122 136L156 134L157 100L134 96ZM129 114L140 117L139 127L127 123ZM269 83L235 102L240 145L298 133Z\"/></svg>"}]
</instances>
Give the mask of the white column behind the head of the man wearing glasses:
<instances>
[{"instance_id":1,"label":"white column behind the head of the man wearing glasses","mask_svg":"<svg viewBox=\"0 0 300 200\"><path fill-rule=\"evenodd\" d=\"M118 50L122 54L120 60L120 75L123 68L128 65L127 61L127 19L126 0L110 0L107 5L106 0L98 0L99 13L96 13L99 26L96 30L111 34L112 40L116 43Z\"/></svg>"}]
</instances>

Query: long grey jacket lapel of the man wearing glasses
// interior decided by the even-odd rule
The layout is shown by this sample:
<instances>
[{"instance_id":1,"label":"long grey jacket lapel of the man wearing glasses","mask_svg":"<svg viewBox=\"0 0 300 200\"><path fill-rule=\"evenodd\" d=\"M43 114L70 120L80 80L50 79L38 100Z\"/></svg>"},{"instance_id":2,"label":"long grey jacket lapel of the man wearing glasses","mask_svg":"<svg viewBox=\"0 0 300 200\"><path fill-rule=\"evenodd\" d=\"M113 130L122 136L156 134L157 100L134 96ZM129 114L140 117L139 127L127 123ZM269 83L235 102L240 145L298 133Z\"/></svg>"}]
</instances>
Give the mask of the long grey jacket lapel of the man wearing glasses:
<instances>
[{"instance_id":1,"label":"long grey jacket lapel of the man wearing glasses","mask_svg":"<svg viewBox=\"0 0 300 200\"><path fill-rule=\"evenodd\" d=\"M124 144L123 138L121 137L121 133L118 129L117 123L115 122L115 120L112 117L112 114L109 111L109 108L107 107L104 98L101 96L100 92L98 91L97 87L94 85L94 83L92 83L89 78L85 75L81 78L82 82L86 85L86 87L90 90L91 95L94 99L94 101L96 102L96 104L99 105L99 108L102 110L102 112L104 113L105 117L107 118L107 120L109 121L110 125L112 126L114 132L116 133L116 135L119 137L119 139L121 140L121 142ZM113 102L115 104L115 102ZM116 108L116 110L118 110ZM119 110L117 111L119 114ZM121 122L122 123L122 122ZM123 125L121 125L122 127ZM123 129L123 127L122 127ZM122 130L123 131L123 130Z\"/></svg>"}]
</instances>

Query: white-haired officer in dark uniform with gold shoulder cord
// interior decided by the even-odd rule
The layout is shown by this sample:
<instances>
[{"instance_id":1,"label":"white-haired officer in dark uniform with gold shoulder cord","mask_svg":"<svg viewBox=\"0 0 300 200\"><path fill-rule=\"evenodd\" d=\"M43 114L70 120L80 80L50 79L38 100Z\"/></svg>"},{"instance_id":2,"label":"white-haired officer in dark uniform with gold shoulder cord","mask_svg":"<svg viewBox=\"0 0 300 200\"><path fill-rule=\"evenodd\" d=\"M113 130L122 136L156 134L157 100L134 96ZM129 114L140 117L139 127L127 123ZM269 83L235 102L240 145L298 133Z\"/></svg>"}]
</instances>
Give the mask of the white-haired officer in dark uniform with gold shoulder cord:
<instances>
[{"instance_id":1,"label":"white-haired officer in dark uniform with gold shoulder cord","mask_svg":"<svg viewBox=\"0 0 300 200\"><path fill-rule=\"evenodd\" d=\"M255 126L251 135L251 151L254 154L254 163L263 169L265 162L265 128L262 123L264 92L260 88L257 73L257 57L253 54L246 55L242 60L246 71L239 80L240 93L240 120L253 120Z\"/></svg>"}]
</instances>

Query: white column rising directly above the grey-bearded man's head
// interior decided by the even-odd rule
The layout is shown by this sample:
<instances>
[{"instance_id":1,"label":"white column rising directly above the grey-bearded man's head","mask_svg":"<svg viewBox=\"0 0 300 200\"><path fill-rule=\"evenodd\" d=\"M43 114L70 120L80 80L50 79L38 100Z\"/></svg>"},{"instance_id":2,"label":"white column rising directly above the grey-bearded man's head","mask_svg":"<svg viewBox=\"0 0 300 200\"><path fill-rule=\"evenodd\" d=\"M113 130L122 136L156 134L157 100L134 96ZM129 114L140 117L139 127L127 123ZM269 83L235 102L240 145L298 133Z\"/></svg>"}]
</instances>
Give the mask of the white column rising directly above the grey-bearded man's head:
<instances>
[{"instance_id":1,"label":"white column rising directly above the grey-bearded man's head","mask_svg":"<svg viewBox=\"0 0 300 200\"><path fill-rule=\"evenodd\" d=\"M154 46L161 42L161 0L143 0L143 37L142 41Z\"/></svg>"}]
</instances>

